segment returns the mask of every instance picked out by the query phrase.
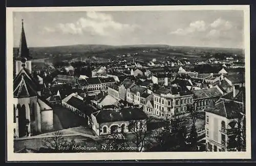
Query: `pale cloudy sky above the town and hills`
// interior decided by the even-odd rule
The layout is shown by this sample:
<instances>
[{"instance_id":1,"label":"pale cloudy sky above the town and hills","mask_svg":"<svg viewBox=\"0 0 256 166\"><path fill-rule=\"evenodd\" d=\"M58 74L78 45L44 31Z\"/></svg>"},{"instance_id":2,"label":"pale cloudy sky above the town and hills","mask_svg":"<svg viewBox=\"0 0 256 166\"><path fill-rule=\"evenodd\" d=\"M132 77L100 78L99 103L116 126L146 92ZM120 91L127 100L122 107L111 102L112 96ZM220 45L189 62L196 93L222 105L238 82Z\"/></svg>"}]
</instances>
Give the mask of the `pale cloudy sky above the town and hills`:
<instances>
[{"instance_id":1,"label":"pale cloudy sky above the town and hills","mask_svg":"<svg viewBox=\"0 0 256 166\"><path fill-rule=\"evenodd\" d=\"M167 44L244 48L243 11L14 12L14 47L22 19L28 47Z\"/></svg>"}]
</instances>

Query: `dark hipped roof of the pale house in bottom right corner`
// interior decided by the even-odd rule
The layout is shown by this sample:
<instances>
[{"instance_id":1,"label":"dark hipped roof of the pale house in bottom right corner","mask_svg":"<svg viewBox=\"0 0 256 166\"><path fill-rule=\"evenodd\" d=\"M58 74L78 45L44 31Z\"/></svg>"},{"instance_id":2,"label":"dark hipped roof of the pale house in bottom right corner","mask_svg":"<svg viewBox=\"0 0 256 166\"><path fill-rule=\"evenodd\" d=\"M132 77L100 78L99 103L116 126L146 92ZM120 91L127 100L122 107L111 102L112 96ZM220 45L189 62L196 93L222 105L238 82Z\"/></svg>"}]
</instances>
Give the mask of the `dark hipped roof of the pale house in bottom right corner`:
<instances>
[{"instance_id":1,"label":"dark hipped roof of the pale house in bottom right corner","mask_svg":"<svg viewBox=\"0 0 256 166\"><path fill-rule=\"evenodd\" d=\"M219 100L214 107L206 108L205 112L217 114L227 119L236 119L243 112L243 105L234 101Z\"/></svg>"}]
</instances>

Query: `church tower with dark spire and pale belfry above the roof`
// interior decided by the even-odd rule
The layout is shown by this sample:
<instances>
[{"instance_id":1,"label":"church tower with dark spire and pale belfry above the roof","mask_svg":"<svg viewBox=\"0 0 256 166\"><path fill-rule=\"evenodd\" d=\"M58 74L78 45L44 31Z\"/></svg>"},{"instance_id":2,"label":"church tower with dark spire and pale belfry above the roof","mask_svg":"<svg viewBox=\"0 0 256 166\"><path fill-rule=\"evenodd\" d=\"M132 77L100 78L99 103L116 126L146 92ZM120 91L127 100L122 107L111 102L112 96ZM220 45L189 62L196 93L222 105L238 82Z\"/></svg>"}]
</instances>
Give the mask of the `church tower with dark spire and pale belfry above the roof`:
<instances>
[{"instance_id":1,"label":"church tower with dark spire and pale belfry above the roof","mask_svg":"<svg viewBox=\"0 0 256 166\"><path fill-rule=\"evenodd\" d=\"M24 31L24 23L22 19L22 33L20 34L19 48L17 50L17 58L15 60L16 67L16 75L22 70L24 67L31 74L31 59L29 56L29 49L26 41L25 31Z\"/></svg>"}]
</instances>

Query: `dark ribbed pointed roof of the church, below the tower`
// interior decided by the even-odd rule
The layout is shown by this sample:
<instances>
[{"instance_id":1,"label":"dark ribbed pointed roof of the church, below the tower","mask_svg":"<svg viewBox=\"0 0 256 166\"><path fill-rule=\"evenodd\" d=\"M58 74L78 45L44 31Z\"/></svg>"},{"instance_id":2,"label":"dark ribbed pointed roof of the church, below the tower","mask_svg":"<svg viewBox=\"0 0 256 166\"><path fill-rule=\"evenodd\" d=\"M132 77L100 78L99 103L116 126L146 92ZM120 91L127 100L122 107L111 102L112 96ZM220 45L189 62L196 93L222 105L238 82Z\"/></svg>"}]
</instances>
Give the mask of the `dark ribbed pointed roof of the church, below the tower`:
<instances>
[{"instance_id":1,"label":"dark ribbed pointed roof of the church, below the tower","mask_svg":"<svg viewBox=\"0 0 256 166\"><path fill-rule=\"evenodd\" d=\"M36 80L25 68L13 80L13 96L16 98L37 96L37 88Z\"/></svg>"}]
</instances>

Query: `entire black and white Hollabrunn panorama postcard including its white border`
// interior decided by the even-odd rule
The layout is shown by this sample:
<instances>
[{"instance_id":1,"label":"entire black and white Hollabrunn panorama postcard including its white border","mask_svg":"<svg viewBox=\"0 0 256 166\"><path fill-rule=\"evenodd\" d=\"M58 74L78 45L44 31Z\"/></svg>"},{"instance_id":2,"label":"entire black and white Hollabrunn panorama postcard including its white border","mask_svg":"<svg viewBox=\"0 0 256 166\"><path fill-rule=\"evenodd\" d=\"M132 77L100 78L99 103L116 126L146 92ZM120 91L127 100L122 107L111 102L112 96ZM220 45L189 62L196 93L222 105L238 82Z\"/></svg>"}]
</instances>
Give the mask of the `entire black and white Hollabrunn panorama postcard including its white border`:
<instances>
[{"instance_id":1,"label":"entire black and white Hollabrunn panorama postcard including its white border","mask_svg":"<svg viewBox=\"0 0 256 166\"><path fill-rule=\"evenodd\" d=\"M6 23L10 160L251 157L249 6L7 8Z\"/></svg>"}]
</instances>

